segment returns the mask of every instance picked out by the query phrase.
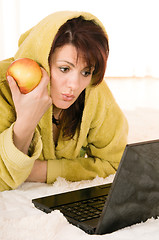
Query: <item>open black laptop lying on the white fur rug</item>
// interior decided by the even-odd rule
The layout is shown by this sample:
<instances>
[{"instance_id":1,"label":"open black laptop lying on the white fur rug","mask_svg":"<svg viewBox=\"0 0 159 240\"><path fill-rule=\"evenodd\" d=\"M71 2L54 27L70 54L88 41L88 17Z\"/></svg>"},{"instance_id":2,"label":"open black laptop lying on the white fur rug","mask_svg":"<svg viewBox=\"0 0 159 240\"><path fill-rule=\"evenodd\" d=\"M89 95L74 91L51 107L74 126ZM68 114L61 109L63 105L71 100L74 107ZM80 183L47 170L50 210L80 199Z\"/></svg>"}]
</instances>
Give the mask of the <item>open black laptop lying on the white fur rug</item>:
<instances>
[{"instance_id":1,"label":"open black laptop lying on the white fur rug","mask_svg":"<svg viewBox=\"0 0 159 240\"><path fill-rule=\"evenodd\" d=\"M33 199L60 210L88 234L106 234L159 216L159 140L127 144L113 183Z\"/></svg>"}]
</instances>

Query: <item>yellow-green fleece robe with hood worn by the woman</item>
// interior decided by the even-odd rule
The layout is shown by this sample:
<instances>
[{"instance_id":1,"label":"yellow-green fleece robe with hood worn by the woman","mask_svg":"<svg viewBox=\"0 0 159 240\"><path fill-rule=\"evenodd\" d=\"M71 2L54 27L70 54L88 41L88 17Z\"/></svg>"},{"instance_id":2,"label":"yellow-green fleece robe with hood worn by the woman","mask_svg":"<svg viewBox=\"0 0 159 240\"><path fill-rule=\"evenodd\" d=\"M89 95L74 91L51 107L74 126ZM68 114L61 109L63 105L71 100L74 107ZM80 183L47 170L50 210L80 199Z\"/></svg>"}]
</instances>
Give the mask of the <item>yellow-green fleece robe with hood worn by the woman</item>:
<instances>
[{"instance_id":1,"label":"yellow-green fleece robe with hood worn by the woman","mask_svg":"<svg viewBox=\"0 0 159 240\"><path fill-rule=\"evenodd\" d=\"M118 168L127 143L128 125L110 89L103 80L86 88L85 105L79 131L65 140L60 132L57 145L53 141L53 107L38 123L29 154L19 151L13 142L16 111L6 81L6 71L12 61L27 57L35 60L50 74L48 56L59 27L68 19L83 16L102 23L90 13L56 12L22 34L15 56L0 62L0 191L15 189L29 176L34 161L47 161L47 183L58 176L70 181L106 177ZM48 87L48 92L50 86Z\"/></svg>"}]
</instances>

